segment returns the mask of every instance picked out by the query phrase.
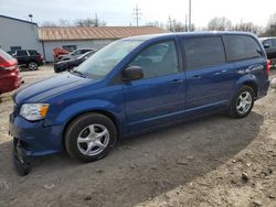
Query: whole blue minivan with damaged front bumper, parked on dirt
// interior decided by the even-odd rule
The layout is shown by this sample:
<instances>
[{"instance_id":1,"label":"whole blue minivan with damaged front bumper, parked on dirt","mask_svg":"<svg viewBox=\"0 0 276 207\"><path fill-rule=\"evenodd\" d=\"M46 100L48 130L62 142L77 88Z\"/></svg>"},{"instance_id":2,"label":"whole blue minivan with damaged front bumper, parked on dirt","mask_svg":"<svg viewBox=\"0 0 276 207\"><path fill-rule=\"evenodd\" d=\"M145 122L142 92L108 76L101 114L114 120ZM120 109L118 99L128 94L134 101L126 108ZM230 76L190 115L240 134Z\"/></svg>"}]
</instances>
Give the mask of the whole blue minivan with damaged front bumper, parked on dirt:
<instances>
[{"instance_id":1,"label":"whole blue minivan with damaged front bumper, parked on dirt","mask_svg":"<svg viewBox=\"0 0 276 207\"><path fill-rule=\"evenodd\" d=\"M246 117L267 94L269 65L251 33L134 36L77 68L19 89L10 115L15 166L66 151L104 157L124 137L215 111Z\"/></svg>"}]
</instances>

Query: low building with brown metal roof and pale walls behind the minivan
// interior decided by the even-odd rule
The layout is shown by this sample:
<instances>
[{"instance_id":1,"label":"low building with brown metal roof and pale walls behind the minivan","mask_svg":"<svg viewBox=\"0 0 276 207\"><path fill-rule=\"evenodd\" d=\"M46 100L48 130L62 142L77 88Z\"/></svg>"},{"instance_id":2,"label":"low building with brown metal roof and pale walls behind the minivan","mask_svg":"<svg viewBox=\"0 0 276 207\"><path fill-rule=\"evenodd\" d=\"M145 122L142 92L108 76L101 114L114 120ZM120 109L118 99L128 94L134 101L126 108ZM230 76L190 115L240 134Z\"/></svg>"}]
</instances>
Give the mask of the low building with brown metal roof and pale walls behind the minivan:
<instances>
[{"instance_id":1,"label":"low building with brown metal roof and pale walls behind the minivan","mask_svg":"<svg viewBox=\"0 0 276 207\"><path fill-rule=\"evenodd\" d=\"M163 32L156 26L42 26L40 40L45 59L52 62L54 47L99 50L115 40Z\"/></svg>"}]
</instances>

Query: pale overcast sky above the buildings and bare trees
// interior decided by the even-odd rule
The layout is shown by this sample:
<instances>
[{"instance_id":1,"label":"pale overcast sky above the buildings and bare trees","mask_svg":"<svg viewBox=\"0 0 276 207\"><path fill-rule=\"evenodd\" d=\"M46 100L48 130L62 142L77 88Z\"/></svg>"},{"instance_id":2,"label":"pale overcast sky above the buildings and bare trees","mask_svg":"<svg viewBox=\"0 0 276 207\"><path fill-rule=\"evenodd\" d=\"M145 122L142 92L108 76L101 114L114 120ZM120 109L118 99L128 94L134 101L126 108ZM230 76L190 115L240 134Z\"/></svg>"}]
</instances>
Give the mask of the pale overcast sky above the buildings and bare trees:
<instances>
[{"instance_id":1,"label":"pale overcast sky above the buildings and bare trees","mask_svg":"<svg viewBox=\"0 0 276 207\"><path fill-rule=\"evenodd\" d=\"M60 19L93 18L107 25L135 24L134 8L141 9L140 23L168 22L168 17L185 21L189 0L0 0L0 14L33 21L57 22ZM204 26L214 17L226 17L233 23L254 22L266 25L270 14L276 13L276 0L192 0L192 23Z\"/></svg>"}]
</instances>

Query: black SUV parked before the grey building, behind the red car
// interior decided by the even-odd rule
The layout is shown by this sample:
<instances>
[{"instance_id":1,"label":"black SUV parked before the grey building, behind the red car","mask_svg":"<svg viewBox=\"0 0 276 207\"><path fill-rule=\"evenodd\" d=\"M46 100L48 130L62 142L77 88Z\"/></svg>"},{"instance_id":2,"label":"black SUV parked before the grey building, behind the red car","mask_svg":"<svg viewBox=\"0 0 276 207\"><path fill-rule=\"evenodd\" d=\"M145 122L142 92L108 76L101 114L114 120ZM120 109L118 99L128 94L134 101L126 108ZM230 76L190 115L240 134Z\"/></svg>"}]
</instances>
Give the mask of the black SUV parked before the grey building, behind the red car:
<instances>
[{"instance_id":1,"label":"black SUV parked before the grey building, behind the red car","mask_svg":"<svg viewBox=\"0 0 276 207\"><path fill-rule=\"evenodd\" d=\"M44 64L43 56L34 50L9 51L10 55L18 59L19 65L28 66L30 69L39 69Z\"/></svg>"}]
</instances>

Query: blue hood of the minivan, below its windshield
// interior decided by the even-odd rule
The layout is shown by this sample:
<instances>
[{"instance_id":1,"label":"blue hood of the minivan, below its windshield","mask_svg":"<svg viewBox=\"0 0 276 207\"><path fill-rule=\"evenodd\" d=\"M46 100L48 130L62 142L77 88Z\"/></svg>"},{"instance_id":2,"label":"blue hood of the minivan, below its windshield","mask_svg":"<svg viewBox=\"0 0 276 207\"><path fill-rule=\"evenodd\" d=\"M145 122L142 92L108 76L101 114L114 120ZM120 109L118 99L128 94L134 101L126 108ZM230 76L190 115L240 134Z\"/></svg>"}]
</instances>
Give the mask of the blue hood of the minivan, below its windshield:
<instances>
[{"instance_id":1,"label":"blue hood of the minivan, below its windshield","mask_svg":"<svg viewBox=\"0 0 276 207\"><path fill-rule=\"evenodd\" d=\"M40 102L93 81L95 80L63 73L17 90L13 99L19 105L24 102Z\"/></svg>"}]
</instances>

